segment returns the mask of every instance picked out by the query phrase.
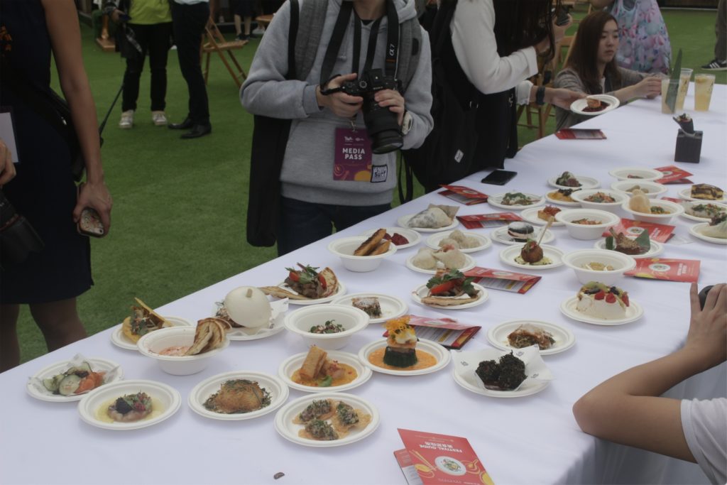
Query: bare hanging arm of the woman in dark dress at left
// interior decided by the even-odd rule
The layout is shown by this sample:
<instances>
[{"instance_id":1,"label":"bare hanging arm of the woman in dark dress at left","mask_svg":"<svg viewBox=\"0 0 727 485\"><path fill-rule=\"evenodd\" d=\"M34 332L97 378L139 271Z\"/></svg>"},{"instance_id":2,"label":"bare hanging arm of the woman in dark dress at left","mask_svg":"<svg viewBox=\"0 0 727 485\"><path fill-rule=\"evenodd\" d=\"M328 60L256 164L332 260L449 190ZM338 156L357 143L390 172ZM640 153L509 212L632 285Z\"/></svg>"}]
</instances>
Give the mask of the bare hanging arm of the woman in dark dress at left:
<instances>
[{"instance_id":1,"label":"bare hanging arm of the woman in dark dress at left","mask_svg":"<svg viewBox=\"0 0 727 485\"><path fill-rule=\"evenodd\" d=\"M79 199L73 209L73 220L79 220L84 207L92 207L101 216L103 227L108 233L111 228L111 194L103 178L96 106L81 57L81 31L76 5L72 0L41 1L60 88L71 108L73 127L76 128L86 162L86 183L81 186Z\"/></svg>"}]
</instances>

